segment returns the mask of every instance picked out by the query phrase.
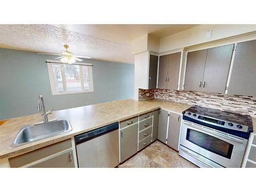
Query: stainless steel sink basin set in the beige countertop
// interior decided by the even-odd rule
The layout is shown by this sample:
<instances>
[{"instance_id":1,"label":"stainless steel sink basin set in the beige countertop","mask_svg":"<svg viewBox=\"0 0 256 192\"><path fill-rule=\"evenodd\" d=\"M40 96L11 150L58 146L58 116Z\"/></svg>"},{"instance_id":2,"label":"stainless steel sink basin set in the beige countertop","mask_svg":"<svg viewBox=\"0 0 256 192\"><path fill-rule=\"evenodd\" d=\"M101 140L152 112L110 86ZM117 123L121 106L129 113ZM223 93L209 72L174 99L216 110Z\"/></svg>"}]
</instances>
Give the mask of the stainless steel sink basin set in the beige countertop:
<instances>
[{"instance_id":1,"label":"stainless steel sink basin set in the beige countertop","mask_svg":"<svg viewBox=\"0 0 256 192\"><path fill-rule=\"evenodd\" d=\"M23 126L8 148L24 145L47 137L70 132L72 130L68 118L59 118L46 123Z\"/></svg>"}]
</instances>

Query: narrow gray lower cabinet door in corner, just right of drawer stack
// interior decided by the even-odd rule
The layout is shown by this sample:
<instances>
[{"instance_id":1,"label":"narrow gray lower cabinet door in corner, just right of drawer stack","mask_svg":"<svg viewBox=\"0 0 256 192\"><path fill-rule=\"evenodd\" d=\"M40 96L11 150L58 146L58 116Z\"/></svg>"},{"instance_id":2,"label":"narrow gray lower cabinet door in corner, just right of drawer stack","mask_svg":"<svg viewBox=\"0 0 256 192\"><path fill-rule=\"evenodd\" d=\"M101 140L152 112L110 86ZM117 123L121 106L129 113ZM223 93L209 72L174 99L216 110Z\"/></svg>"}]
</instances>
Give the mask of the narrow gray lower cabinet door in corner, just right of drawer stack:
<instances>
[{"instance_id":1,"label":"narrow gray lower cabinet door in corner, just right of drawer stack","mask_svg":"<svg viewBox=\"0 0 256 192\"><path fill-rule=\"evenodd\" d=\"M164 143L166 142L167 121L168 121L168 111L161 109L159 113L157 138Z\"/></svg>"}]
</instances>

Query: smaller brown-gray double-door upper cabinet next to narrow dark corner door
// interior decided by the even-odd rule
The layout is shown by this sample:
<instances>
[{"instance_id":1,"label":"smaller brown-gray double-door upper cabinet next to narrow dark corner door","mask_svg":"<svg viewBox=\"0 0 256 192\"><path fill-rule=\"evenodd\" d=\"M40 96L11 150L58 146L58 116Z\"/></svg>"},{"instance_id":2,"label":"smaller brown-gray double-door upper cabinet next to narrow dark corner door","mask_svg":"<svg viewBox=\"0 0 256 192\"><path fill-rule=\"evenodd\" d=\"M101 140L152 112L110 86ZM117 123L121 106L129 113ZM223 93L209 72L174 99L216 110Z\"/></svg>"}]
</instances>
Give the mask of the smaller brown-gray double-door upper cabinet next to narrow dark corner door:
<instances>
[{"instance_id":1,"label":"smaller brown-gray double-door upper cabinet next to narrow dark corner door","mask_svg":"<svg viewBox=\"0 0 256 192\"><path fill-rule=\"evenodd\" d=\"M158 89L177 90L181 52L160 56Z\"/></svg>"}]
</instances>

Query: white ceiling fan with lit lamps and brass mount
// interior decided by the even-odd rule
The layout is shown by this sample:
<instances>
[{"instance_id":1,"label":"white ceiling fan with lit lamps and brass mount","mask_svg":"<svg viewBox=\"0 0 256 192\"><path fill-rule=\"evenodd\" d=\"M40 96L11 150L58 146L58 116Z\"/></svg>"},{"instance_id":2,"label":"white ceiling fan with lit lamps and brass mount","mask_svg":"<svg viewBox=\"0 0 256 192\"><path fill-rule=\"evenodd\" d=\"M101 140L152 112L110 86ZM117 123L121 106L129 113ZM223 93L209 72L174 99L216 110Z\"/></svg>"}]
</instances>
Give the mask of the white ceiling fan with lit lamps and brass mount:
<instances>
[{"instance_id":1,"label":"white ceiling fan with lit lamps and brass mount","mask_svg":"<svg viewBox=\"0 0 256 192\"><path fill-rule=\"evenodd\" d=\"M60 57L57 57L55 59L59 59L61 62L65 64L73 64L76 61L82 61L82 59L79 58L91 58L88 56L79 56L79 55L73 55L72 52L68 51L69 46L63 45L63 47L66 49L66 51L61 51L61 54L54 54L54 53L37 53L37 54L43 54L43 55L60 55Z\"/></svg>"}]
</instances>

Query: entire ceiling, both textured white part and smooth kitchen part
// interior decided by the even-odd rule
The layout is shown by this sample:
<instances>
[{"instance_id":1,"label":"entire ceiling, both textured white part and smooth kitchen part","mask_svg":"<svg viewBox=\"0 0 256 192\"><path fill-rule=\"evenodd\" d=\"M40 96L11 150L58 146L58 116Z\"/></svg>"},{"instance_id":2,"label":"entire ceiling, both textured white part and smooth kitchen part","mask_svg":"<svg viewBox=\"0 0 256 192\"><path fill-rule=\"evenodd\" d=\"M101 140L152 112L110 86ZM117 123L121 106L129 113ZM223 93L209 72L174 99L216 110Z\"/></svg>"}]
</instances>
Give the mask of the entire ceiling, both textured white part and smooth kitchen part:
<instances>
[{"instance_id":1,"label":"entire ceiling, both textured white part and smooth kitchen part","mask_svg":"<svg viewBox=\"0 0 256 192\"><path fill-rule=\"evenodd\" d=\"M147 33L158 38L196 25L0 25L0 47L134 63L131 42Z\"/></svg>"}]
</instances>

